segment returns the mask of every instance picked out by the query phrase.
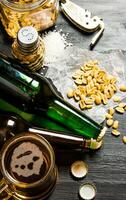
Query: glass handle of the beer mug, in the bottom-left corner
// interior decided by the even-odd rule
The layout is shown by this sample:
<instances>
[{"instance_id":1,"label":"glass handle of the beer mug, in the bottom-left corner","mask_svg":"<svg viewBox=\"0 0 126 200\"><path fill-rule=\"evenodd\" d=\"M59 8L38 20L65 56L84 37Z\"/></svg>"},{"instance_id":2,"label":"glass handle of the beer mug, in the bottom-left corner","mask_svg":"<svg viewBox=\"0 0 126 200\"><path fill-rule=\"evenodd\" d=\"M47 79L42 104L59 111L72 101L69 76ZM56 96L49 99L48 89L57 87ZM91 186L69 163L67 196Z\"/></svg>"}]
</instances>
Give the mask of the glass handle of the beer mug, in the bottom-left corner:
<instances>
[{"instance_id":1,"label":"glass handle of the beer mug, in the bottom-left corner","mask_svg":"<svg viewBox=\"0 0 126 200\"><path fill-rule=\"evenodd\" d=\"M4 178L0 180L0 200L8 200L12 197L10 190L8 189L8 185Z\"/></svg>"}]
</instances>

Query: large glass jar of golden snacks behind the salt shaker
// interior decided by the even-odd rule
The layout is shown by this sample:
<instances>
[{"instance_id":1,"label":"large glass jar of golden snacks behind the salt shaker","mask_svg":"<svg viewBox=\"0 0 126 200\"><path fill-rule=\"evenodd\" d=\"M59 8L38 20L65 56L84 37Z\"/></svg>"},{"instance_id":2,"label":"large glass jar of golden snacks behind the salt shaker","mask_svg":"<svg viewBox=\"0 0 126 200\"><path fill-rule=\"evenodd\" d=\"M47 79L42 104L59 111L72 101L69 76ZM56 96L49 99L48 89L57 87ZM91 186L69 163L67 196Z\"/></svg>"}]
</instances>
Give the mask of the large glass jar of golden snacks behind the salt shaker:
<instances>
[{"instance_id":1,"label":"large glass jar of golden snacks behind the salt shaker","mask_svg":"<svg viewBox=\"0 0 126 200\"><path fill-rule=\"evenodd\" d=\"M53 26L58 8L58 0L1 0L0 19L8 35L16 38L24 26L33 26L37 31Z\"/></svg>"}]
</instances>

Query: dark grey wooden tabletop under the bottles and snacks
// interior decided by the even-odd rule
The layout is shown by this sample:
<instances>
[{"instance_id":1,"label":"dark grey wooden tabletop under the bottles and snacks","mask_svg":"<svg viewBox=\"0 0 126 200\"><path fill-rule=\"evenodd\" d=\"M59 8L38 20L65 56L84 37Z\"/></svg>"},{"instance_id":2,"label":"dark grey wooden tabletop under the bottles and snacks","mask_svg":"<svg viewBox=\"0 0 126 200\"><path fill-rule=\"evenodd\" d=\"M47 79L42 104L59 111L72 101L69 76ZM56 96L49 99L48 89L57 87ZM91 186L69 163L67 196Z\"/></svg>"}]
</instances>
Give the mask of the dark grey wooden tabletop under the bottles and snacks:
<instances>
[{"instance_id":1,"label":"dark grey wooden tabletop under the bottles and snacks","mask_svg":"<svg viewBox=\"0 0 126 200\"><path fill-rule=\"evenodd\" d=\"M125 0L73 0L83 8L100 16L105 22L105 32L96 45L96 51L111 49L126 50L126 2ZM86 35L66 20L60 13L57 28L69 33L68 42L74 46L88 48L92 35ZM0 48L7 53L2 43L5 39L0 31ZM97 200L126 200L126 145L122 136L126 135L126 115L116 114L120 121L121 136L115 138L107 131L102 148L96 152L78 152L60 150L56 152L59 171L56 189L50 200L77 200L79 186L85 181L94 182L97 188ZM70 175L70 166L76 160L84 160L89 172L83 180L75 181Z\"/></svg>"}]
</instances>

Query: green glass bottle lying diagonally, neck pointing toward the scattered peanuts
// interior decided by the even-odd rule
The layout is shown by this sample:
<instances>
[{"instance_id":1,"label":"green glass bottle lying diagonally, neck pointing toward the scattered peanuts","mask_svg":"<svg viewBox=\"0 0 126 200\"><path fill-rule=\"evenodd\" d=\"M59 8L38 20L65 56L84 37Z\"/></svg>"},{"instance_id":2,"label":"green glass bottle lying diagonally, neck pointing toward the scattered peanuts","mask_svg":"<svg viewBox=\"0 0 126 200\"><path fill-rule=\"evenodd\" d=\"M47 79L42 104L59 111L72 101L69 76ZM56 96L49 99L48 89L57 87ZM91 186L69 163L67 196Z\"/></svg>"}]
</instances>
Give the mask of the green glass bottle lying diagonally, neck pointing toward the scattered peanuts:
<instances>
[{"instance_id":1,"label":"green glass bottle lying diagonally, neck pointing toward the scattered peanuts","mask_svg":"<svg viewBox=\"0 0 126 200\"><path fill-rule=\"evenodd\" d=\"M0 59L0 91L4 103L13 106L12 112L28 121L32 118L31 123L34 121L39 127L43 127L46 117L84 137L97 139L101 132L102 126L62 99L47 78L3 59ZM7 105L3 109L10 111Z\"/></svg>"}]
</instances>

